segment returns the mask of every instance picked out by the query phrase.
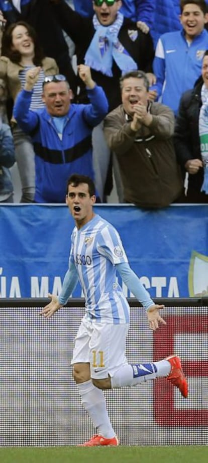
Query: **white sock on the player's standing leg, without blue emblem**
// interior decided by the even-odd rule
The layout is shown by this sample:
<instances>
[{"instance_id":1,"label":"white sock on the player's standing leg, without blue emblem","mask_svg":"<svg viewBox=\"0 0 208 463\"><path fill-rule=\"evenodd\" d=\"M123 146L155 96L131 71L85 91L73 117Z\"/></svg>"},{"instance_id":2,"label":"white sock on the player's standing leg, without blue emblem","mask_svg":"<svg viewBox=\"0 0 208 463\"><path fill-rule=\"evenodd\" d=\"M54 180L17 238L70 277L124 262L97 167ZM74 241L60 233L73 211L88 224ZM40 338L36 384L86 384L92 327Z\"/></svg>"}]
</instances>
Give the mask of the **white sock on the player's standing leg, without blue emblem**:
<instances>
[{"instance_id":1,"label":"white sock on the player's standing leg, without blue emblem","mask_svg":"<svg viewBox=\"0 0 208 463\"><path fill-rule=\"evenodd\" d=\"M77 384L81 402L100 436L111 439L116 435L106 408L106 400L101 389L89 381Z\"/></svg>"}]
</instances>

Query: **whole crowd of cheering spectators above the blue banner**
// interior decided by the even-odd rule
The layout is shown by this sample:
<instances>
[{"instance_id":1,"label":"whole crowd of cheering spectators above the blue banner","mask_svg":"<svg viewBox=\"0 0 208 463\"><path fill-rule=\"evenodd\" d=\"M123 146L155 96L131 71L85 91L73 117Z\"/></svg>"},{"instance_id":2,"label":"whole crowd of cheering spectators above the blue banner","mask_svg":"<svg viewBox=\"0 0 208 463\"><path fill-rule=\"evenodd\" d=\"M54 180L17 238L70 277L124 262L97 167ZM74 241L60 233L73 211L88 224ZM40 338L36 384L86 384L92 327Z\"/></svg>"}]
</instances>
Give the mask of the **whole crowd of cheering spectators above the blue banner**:
<instances>
[{"instance_id":1,"label":"whole crowd of cheering spectators above the blue banner","mask_svg":"<svg viewBox=\"0 0 208 463\"><path fill-rule=\"evenodd\" d=\"M16 162L22 203L78 173L100 202L208 204L207 23L208 0L0 0L0 201Z\"/></svg>"}]
</instances>

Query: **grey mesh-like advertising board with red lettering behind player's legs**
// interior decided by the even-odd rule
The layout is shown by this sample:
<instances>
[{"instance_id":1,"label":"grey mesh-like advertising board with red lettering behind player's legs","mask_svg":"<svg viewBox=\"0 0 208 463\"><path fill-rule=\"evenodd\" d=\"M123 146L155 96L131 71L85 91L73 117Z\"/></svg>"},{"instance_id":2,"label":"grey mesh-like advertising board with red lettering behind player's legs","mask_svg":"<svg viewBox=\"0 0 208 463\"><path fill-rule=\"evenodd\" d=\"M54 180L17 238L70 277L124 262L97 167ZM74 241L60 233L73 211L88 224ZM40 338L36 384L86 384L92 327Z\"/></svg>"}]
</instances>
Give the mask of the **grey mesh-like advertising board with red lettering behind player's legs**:
<instances>
[{"instance_id":1,"label":"grey mesh-like advertising board with red lettering behind player's legs","mask_svg":"<svg viewBox=\"0 0 208 463\"><path fill-rule=\"evenodd\" d=\"M47 299L0 299L0 445L76 445L94 434L72 378L73 340L83 299L69 299L50 319ZM130 363L181 356L189 382L183 399L165 378L106 391L113 426L123 445L207 445L208 299L155 299L167 325L152 333L144 310L129 299Z\"/></svg>"}]
</instances>

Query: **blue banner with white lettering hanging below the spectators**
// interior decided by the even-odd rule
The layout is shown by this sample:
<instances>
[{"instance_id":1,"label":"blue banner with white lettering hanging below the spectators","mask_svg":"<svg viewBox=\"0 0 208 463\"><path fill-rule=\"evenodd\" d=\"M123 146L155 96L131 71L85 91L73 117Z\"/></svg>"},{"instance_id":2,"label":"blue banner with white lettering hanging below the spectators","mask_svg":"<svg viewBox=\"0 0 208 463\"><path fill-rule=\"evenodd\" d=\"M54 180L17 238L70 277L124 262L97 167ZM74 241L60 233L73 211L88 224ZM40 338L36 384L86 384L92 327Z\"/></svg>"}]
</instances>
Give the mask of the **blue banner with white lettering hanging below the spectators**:
<instances>
[{"instance_id":1,"label":"blue banner with white lettering hanging below the spectators","mask_svg":"<svg viewBox=\"0 0 208 463\"><path fill-rule=\"evenodd\" d=\"M100 205L94 210L117 228L132 269L153 298L207 296L207 205L159 211ZM74 227L67 207L0 206L0 224L1 297L59 294ZM78 285L73 297L80 296Z\"/></svg>"}]
</instances>

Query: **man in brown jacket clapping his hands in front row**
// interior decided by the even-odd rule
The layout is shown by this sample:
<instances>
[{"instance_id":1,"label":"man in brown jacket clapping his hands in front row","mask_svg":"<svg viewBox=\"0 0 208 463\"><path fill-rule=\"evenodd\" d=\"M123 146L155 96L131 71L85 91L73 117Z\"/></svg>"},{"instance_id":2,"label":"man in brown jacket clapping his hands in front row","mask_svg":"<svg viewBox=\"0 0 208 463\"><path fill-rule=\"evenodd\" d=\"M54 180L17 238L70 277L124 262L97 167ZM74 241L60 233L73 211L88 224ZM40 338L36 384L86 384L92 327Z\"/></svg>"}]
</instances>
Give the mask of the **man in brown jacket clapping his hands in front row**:
<instances>
[{"instance_id":1,"label":"man in brown jacket clapping his hands in front row","mask_svg":"<svg viewBox=\"0 0 208 463\"><path fill-rule=\"evenodd\" d=\"M142 71L125 74L120 81L123 104L107 115L104 131L118 159L125 202L166 207L182 190L172 142L173 112L149 101L149 82Z\"/></svg>"}]
</instances>

